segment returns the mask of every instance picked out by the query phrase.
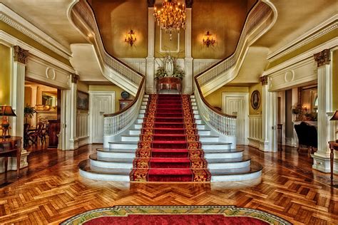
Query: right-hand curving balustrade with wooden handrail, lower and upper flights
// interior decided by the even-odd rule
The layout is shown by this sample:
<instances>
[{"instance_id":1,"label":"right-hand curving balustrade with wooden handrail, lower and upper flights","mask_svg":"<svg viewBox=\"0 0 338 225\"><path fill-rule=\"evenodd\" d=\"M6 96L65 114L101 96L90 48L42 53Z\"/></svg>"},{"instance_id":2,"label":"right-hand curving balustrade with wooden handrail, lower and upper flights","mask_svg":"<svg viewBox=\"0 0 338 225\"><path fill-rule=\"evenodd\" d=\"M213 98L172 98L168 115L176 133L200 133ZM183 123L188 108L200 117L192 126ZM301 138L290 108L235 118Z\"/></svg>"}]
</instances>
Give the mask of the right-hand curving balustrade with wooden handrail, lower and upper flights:
<instances>
[{"instance_id":1,"label":"right-hand curving balustrade with wooden handrail, lower and upper flights","mask_svg":"<svg viewBox=\"0 0 338 225\"><path fill-rule=\"evenodd\" d=\"M237 42L235 52L222 61L211 66L207 70L195 75L195 98L198 103L198 108L202 111L201 115L204 117L206 122L209 123L215 130L227 136L235 136L235 124L234 121L237 118L236 115L228 115L226 113L220 112L212 108L212 105L205 100L201 87L203 85L208 85L208 83L215 78L218 78L221 75L224 75L227 71L230 71L236 66L239 61L239 58L248 42L248 36L255 33L255 28L260 26L262 21L270 17L270 12L272 9L265 3L259 1L247 15L245 19L245 24L240 35L240 39ZM262 28L264 30L264 28ZM264 32L262 32L264 33ZM262 35L261 33L261 35ZM225 123L225 124L223 124Z\"/></svg>"}]
</instances>

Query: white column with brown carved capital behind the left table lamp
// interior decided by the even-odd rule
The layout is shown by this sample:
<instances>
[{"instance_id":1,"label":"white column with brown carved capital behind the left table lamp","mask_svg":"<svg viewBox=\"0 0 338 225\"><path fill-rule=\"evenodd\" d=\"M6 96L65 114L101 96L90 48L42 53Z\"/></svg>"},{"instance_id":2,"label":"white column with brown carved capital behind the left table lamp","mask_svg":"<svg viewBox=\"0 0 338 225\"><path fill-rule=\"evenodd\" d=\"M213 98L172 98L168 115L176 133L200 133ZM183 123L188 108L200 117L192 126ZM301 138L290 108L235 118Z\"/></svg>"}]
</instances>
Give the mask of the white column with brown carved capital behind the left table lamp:
<instances>
[{"instance_id":1,"label":"white column with brown carved capital behind the left table lamp","mask_svg":"<svg viewBox=\"0 0 338 225\"><path fill-rule=\"evenodd\" d=\"M14 61L11 77L11 107L16 113L16 117L10 118L11 135L19 136L24 139L24 97L25 97L25 71L26 58L29 56L28 51L19 46L13 47ZM21 162L20 167L27 167L27 156L29 152L24 150L24 143L21 142ZM16 158L9 159L9 169L16 169Z\"/></svg>"}]
</instances>

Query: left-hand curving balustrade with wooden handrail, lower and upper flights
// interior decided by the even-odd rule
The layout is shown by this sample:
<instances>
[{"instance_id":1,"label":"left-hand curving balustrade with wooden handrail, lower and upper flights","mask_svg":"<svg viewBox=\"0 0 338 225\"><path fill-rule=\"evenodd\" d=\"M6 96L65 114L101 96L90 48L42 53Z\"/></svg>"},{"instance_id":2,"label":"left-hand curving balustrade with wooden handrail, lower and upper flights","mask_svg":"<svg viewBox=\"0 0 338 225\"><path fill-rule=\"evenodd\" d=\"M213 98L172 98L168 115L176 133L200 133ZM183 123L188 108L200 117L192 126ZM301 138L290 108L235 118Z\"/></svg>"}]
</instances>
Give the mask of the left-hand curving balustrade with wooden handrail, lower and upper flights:
<instances>
[{"instance_id":1,"label":"left-hand curving balustrade with wooden handrail, lower and upper flights","mask_svg":"<svg viewBox=\"0 0 338 225\"><path fill-rule=\"evenodd\" d=\"M128 83L138 87L138 91L134 100L118 112L104 114L104 136L115 135L121 132L132 120L138 115L138 110L142 103L142 96L145 92L145 76L138 71L130 68L126 63L123 63L118 58L111 56L103 45L101 33L96 23L96 17L93 9L85 0L80 0L73 5L71 9L71 19L74 25L82 32L88 33L88 38L93 43L96 52L98 53L100 63L108 66L121 75L123 79L128 80ZM77 20L76 20L77 19Z\"/></svg>"}]
</instances>

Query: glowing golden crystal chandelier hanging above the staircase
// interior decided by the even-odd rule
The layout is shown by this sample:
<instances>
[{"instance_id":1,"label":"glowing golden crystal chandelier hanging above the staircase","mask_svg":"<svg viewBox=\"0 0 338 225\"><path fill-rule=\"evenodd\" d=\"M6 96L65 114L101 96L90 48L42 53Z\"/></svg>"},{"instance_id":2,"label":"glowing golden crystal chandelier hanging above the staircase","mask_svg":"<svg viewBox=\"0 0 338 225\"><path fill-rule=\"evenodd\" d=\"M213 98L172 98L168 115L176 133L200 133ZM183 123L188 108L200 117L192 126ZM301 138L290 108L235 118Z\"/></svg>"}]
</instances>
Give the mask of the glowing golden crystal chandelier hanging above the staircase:
<instances>
[{"instance_id":1,"label":"glowing golden crystal chandelier hanging above the staircase","mask_svg":"<svg viewBox=\"0 0 338 225\"><path fill-rule=\"evenodd\" d=\"M185 6L177 3L176 0L165 0L162 9L154 9L155 20L158 26L170 34L170 40L173 32L180 33L180 28L185 28Z\"/></svg>"}]
</instances>

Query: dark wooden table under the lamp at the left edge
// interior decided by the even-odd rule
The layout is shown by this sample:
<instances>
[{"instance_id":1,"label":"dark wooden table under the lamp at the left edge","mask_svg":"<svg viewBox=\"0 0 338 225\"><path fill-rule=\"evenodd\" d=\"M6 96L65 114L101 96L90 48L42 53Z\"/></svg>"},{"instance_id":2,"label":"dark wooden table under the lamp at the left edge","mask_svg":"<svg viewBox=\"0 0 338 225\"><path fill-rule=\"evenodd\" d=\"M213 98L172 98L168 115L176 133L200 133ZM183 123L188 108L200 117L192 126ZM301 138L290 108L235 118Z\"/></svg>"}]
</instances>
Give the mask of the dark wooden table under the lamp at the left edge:
<instances>
[{"instance_id":1,"label":"dark wooden table under the lamp at the left edge","mask_svg":"<svg viewBox=\"0 0 338 225\"><path fill-rule=\"evenodd\" d=\"M0 137L0 157L5 157L5 173L7 173L8 157L16 157L16 175L20 175L21 159L21 139L22 137Z\"/></svg>"}]
</instances>

